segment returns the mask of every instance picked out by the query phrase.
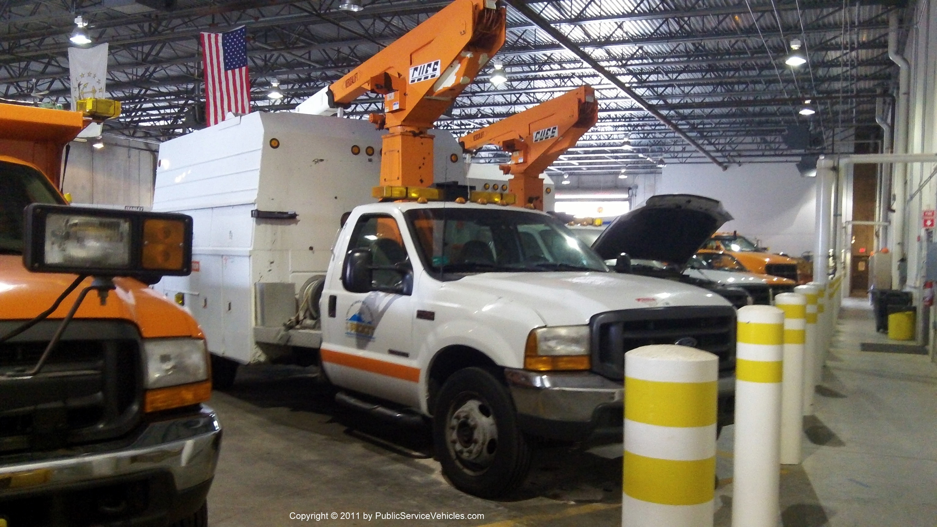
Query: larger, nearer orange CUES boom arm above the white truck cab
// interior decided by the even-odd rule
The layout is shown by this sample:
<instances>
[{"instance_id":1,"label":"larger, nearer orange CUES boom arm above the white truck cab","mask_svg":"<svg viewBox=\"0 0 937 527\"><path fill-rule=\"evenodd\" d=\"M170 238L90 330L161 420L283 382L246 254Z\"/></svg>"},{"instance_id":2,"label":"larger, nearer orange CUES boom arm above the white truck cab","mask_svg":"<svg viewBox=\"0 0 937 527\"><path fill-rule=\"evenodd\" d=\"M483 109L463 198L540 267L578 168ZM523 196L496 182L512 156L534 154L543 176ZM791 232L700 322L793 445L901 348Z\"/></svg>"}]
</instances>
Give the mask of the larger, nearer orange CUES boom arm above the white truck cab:
<instances>
[{"instance_id":1,"label":"larger, nearer orange CUES boom arm above the white truck cab","mask_svg":"<svg viewBox=\"0 0 937 527\"><path fill-rule=\"evenodd\" d=\"M506 11L495 0L455 0L297 109L332 115L365 92L384 96L370 121L388 128L380 162L382 187L433 184L433 136L426 130L498 53Z\"/></svg>"}]
</instances>

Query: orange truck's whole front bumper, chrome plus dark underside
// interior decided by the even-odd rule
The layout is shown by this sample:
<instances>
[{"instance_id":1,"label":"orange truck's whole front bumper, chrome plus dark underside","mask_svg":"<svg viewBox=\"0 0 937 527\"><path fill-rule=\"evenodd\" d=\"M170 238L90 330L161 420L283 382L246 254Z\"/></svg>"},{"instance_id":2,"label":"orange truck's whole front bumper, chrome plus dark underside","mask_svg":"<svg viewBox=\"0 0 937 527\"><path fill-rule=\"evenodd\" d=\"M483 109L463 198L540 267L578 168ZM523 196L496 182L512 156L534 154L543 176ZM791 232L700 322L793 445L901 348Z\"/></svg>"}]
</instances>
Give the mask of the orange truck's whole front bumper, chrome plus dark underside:
<instances>
[{"instance_id":1,"label":"orange truck's whole front bumper, chrome plus dark underside","mask_svg":"<svg viewBox=\"0 0 937 527\"><path fill-rule=\"evenodd\" d=\"M163 526L204 502L220 444L215 412L200 406L144 425L111 451L0 464L0 517L11 526Z\"/></svg>"}]
</instances>

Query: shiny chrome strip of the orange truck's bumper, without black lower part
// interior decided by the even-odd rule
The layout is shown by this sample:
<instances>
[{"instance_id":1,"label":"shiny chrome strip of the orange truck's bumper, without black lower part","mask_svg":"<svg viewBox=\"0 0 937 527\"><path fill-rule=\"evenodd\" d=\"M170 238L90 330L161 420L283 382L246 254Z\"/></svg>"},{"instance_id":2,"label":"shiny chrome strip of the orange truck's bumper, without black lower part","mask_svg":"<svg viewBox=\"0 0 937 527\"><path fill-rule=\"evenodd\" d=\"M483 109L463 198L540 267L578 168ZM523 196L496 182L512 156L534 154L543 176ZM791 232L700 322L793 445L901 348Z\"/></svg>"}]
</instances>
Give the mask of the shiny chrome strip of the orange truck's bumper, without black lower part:
<instances>
[{"instance_id":1,"label":"shiny chrome strip of the orange truck's bumper, without black lower part","mask_svg":"<svg viewBox=\"0 0 937 527\"><path fill-rule=\"evenodd\" d=\"M202 406L199 414L150 423L136 441L119 450L0 464L0 497L154 472L170 473L178 491L189 489L214 476L220 439L215 412Z\"/></svg>"}]
</instances>

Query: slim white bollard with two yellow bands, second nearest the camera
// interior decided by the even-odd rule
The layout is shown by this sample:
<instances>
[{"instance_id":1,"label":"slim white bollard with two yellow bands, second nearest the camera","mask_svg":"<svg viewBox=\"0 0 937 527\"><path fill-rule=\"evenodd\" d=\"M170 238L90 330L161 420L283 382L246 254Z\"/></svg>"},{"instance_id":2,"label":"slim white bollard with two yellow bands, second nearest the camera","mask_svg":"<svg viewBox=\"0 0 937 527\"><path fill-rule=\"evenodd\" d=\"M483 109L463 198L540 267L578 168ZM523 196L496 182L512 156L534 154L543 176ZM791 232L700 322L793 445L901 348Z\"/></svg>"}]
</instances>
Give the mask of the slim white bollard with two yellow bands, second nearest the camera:
<instances>
[{"instance_id":1,"label":"slim white bollard with two yellow bands, second nearest the camera","mask_svg":"<svg viewBox=\"0 0 937 527\"><path fill-rule=\"evenodd\" d=\"M783 341L781 309L738 309L733 527L776 527L781 517Z\"/></svg>"}]
</instances>

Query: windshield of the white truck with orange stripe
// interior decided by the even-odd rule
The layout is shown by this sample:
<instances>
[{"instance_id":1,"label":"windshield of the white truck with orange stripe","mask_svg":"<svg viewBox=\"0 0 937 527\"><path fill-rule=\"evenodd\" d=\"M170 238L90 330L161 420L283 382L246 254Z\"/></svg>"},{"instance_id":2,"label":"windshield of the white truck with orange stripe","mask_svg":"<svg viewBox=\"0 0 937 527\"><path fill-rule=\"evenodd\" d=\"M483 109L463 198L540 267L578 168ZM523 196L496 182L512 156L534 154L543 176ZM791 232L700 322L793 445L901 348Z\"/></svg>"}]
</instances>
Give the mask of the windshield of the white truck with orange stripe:
<instances>
[{"instance_id":1,"label":"windshield of the white truck with orange stripe","mask_svg":"<svg viewBox=\"0 0 937 527\"><path fill-rule=\"evenodd\" d=\"M557 219L517 209L414 209L407 218L435 273L608 271Z\"/></svg>"}]
</instances>

